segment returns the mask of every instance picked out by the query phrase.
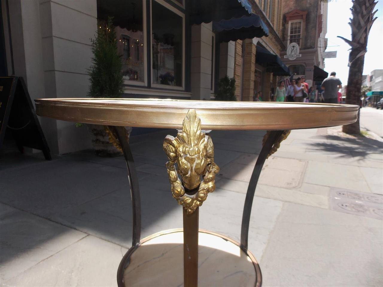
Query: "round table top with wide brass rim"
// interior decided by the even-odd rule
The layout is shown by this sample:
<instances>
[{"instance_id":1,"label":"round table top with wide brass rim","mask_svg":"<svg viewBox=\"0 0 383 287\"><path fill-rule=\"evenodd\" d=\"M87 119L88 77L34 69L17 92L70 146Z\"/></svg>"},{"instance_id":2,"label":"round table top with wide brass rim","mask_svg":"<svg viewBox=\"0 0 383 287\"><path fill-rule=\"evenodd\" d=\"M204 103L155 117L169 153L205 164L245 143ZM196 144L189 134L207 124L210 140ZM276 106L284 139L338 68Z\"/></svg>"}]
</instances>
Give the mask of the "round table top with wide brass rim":
<instances>
[{"instance_id":1,"label":"round table top with wide brass rim","mask_svg":"<svg viewBox=\"0 0 383 287\"><path fill-rule=\"evenodd\" d=\"M172 99L36 99L36 113L63 121L181 129L195 109L207 130L283 130L329 127L357 120L350 104L225 102Z\"/></svg>"}]
</instances>

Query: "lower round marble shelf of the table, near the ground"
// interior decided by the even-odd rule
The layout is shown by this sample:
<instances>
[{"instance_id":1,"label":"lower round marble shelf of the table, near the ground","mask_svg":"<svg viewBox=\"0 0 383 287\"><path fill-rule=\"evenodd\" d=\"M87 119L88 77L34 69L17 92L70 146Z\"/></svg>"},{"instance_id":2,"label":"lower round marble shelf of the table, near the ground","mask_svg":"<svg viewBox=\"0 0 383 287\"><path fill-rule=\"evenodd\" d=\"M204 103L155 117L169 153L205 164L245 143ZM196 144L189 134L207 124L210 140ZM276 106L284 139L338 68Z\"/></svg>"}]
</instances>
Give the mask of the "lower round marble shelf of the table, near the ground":
<instances>
[{"instance_id":1,"label":"lower round marble shelf of the table, near the ground","mask_svg":"<svg viewBox=\"0 0 383 287\"><path fill-rule=\"evenodd\" d=\"M236 241L200 229L198 245L198 286L261 285L257 261ZM125 286L183 286L182 228L155 233L131 249L119 274Z\"/></svg>"}]
</instances>

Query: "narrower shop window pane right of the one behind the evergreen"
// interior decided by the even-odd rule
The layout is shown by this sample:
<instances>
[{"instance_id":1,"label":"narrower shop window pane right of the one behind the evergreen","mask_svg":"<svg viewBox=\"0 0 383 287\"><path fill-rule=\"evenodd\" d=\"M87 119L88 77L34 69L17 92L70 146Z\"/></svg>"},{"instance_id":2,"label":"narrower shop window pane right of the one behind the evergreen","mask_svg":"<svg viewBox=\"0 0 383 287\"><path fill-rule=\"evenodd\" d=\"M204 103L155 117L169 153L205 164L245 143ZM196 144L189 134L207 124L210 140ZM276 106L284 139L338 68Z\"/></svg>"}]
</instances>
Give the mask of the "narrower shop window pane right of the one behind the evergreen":
<instances>
[{"instance_id":1,"label":"narrower shop window pane right of the one behind the evergreen","mask_svg":"<svg viewBox=\"0 0 383 287\"><path fill-rule=\"evenodd\" d=\"M183 16L152 1L152 83L183 86Z\"/></svg>"}]
</instances>

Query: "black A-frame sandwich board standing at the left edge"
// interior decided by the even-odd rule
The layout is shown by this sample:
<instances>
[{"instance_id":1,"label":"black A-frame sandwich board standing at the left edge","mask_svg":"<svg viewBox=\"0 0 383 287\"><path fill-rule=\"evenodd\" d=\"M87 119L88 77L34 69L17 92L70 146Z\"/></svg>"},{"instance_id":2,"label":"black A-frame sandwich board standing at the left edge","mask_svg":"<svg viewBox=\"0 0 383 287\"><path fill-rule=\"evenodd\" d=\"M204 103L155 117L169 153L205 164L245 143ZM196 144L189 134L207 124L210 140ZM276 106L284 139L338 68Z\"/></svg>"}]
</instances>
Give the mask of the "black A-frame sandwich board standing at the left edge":
<instances>
[{"instance_id":1,"label":"black A-frame sandwich board standing at the left edge","mask_svg":"<svg viewBox=\"0 0 383 287\"><path fill-rule=\"evenodd\" d=\"M8 130L20 152L24 147L51 154L22 77L0 77L0 148Z\"/></svg>"}]
</instances>

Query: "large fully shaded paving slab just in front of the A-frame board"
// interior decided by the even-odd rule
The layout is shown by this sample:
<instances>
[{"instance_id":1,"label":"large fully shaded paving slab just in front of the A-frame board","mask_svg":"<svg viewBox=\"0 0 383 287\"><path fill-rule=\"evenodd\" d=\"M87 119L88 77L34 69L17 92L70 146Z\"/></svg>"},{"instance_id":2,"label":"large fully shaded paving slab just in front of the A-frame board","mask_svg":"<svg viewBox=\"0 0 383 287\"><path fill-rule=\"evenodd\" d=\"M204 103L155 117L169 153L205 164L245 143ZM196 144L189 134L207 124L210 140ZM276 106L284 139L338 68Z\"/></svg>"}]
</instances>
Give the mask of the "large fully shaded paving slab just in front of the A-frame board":
<instances>
[{"instance_id":1,"label":"large fully shaded paving slab just in front of the A-frame board","mask_svg":"<svg viewBox=\"0 0 383 287\"><path fill-rule=\"evenodd\" d=\"M2 176L0 197L6 204L49 217L62 208L81 204L128 184L126 169L63 160L41 163L33 169L13 170Z\"/></svg>"}]
</instances>

